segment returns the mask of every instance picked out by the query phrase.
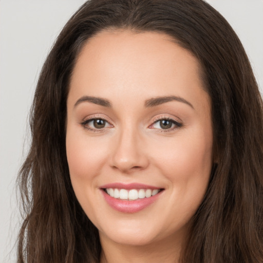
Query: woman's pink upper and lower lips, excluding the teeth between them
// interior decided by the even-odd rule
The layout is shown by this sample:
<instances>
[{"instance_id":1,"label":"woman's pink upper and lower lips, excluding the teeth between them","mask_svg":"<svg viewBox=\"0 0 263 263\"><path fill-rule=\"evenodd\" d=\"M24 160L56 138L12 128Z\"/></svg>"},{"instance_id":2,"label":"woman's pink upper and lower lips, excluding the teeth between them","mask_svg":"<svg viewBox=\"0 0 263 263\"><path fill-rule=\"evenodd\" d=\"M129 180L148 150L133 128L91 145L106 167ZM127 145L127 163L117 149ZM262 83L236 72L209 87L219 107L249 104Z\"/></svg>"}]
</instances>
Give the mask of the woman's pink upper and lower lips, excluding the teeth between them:
<instances>
[{"instance_id":1,"label":"woman's pink upper and lower lips, excluding the teeth between them","mask_svg":"<svg viewBox=\"0 0 263 263\"><path fill-rule=\"evenodd\" d=\"M139 212L153 202L155 202L161 195L163 191L158 193L157 195L148 197L148 198L142 198L137 200L121 200L116 199L114 197L111 197L108 195L104 189L106 188L117 188L117 189L160 189L159 187L154 187L151 185L145 185L145 184L139 184L139 183L130 183L130 184L123 184L123 183L111 183L111 184L105 184L100 187L101 193L103 197L105 198L106 202L111 206L111 208L122 212L122 213L136 213Z\"/></svg>"}]
</instances>

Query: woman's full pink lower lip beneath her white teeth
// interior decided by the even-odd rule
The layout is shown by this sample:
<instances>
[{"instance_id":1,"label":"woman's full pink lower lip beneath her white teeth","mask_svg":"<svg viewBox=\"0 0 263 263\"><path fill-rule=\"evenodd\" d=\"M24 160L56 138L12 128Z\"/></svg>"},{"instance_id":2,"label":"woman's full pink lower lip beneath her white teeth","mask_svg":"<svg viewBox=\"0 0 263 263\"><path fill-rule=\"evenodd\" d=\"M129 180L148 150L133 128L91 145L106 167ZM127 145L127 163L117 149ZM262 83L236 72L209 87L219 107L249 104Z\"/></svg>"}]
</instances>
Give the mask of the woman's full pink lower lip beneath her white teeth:
<instances>
[{"instance_id":1,"label":"woman's full pink lower lip beneath her white teeth","mask_svg":"<svg viewBox=\"0 0 263 263\"><path fill-rule=\"evenodd\" d=\"M163 191L159 192L154 196L145 197L133 201L116 199L105 193L103 190L101 190L101 192L106 202L109 204L109 206L111 206L111 208L122 213L136 213L147 208L147 206L155 202Z\"/></svg>"}]
</instances>

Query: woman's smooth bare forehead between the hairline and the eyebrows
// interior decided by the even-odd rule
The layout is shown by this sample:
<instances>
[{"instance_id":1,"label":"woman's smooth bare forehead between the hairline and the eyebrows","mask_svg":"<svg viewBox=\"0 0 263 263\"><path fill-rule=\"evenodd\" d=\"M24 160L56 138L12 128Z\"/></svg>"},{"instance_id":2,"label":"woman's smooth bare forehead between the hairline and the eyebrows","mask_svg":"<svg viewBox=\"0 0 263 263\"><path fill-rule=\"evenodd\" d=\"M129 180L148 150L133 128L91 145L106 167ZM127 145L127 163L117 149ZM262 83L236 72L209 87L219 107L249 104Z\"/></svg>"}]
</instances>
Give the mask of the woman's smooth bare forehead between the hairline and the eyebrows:
<instances>
[{"instance_id":1,"label":"woman's smooth bare forehead between the hairline and the eyebrows","mask_svg":"<svg viewBox=\"0 0 263 263\"><path fill-rule=\"evenodd\" d=\"M176 95L191 100L204 91L200 68L190 51L164 33L103 31L81 50L69 97L108 98L116 91L117 99L138 99L140 94L144 99Z\"/></svg>"}]
</instances>

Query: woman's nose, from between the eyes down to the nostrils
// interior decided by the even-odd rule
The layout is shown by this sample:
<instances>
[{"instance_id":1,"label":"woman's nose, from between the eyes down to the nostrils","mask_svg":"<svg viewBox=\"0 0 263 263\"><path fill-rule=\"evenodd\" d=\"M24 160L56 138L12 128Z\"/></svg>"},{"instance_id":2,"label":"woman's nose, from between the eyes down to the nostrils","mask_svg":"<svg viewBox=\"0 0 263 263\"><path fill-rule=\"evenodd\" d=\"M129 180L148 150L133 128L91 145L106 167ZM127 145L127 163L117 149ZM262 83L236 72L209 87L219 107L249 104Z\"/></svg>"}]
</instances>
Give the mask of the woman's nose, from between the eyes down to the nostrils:
<instances>
[{"instance_id":1,"label":"woman's nose, from between the eyes down to the nostrils","mask_svg":"<svg viewBox=\"0 0 263 263\"><path fill-rule=\"evenodd\" d=\"M149 162L145 151L145 140L134 129L123 129L116 136L112 151L111 166L122 173L130 174L144 170Z\"/></svg>"}]
</instances>

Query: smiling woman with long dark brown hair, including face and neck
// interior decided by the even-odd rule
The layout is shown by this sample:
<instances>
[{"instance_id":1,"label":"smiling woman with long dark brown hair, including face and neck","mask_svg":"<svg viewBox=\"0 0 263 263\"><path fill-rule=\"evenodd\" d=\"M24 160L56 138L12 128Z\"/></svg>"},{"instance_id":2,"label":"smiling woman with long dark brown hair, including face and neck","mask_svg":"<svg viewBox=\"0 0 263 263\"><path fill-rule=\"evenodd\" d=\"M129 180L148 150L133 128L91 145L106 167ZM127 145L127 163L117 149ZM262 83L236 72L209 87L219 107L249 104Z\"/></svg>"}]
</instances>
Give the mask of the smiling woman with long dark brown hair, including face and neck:
<instances>
[{"instance_id":1,"label":"smiling woman with long dark brown hair, including face and neck","mask_svg":"<svg viewBox=\"0 0 263 263\"><path fill-rule=\"evenodd\" d=\"M41 72L18 262L262 262L263 111L201 0L91 0Z\"/></svg>"}]
</instances>

